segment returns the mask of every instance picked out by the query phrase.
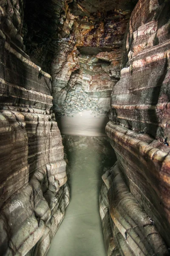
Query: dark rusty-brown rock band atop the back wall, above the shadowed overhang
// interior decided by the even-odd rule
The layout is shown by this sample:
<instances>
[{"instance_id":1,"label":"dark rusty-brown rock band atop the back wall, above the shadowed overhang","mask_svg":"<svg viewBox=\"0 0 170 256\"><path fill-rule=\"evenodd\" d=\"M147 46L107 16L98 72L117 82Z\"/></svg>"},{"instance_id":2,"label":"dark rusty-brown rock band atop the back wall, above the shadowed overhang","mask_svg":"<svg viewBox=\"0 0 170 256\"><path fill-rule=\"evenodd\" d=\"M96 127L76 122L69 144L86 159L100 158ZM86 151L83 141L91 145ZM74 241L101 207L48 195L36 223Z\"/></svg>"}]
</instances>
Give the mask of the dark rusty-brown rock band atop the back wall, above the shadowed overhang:
<instances>
[{"instance_id":1,"label":"dark rusty-brown rock band atop the back wall, above the shadowed overhang","mask_svg":"<svg viewBox=\"0 0 170 256\"><path fill-rule=\"evenodd\" d=\"M115 10L107 18L99 18L99 21L88 18L77 20L75 23L77 47L103 47L106 49L120 47L124 38L128 17L129 12L118 12Z\"/></svg>"}]
</instances>

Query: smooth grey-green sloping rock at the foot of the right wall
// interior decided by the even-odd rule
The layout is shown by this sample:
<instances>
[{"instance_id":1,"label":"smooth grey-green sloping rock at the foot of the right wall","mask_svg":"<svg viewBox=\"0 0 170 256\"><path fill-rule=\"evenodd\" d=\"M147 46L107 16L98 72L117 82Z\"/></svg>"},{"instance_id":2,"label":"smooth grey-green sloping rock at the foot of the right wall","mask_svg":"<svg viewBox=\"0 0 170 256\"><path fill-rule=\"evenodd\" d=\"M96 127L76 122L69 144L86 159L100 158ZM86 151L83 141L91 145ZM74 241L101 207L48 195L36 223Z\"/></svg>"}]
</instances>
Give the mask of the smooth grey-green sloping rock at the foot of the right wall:
<instances>
[{"instance_id":1,"label":"smooth grey-green sloping rock at the foot of the right wall","mask_svg":"<svg viewBox=\"0 0 170 256\"><path fill-rule=\"evenodd\" d=\"M127 188L119 165L116 163L102 178L105 184L100 195L100 214L107 254L168 255L154 222Z\"/></svg>"}]
</instances>

